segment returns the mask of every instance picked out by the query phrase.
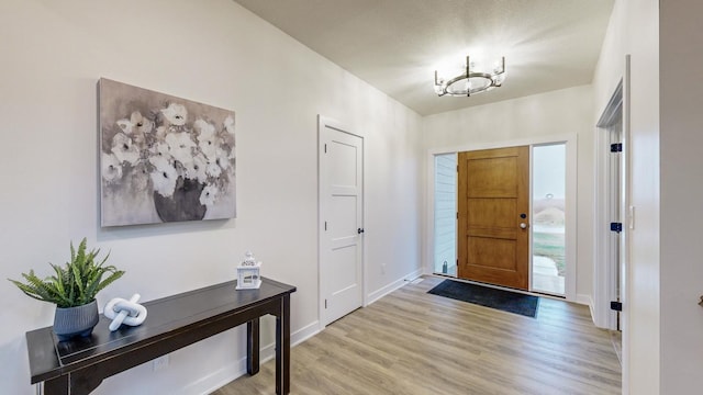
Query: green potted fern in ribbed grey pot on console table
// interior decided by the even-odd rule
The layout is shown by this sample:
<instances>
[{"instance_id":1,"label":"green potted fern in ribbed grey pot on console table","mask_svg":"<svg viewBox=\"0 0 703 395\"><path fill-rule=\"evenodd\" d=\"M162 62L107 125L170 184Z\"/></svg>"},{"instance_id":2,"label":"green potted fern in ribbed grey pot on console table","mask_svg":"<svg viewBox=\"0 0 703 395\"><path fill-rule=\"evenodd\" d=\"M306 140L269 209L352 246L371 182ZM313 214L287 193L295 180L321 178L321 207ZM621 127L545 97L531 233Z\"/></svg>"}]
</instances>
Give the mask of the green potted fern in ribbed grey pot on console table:
<instances>
[{"instance_id":1,"label":"green potted fern in ribbed grey pot on console table","mask_svg":"<svg viewBox=\"0 0 703 395\"><path fill-rule=\"evenodd\" d=\"M40 279L34 270L22 273L25 282L10 280L27 296L56 305L54 332L59 341L76 336L90 336L98 324L98 292L124 274L114 266L105 266L110 253L98 259L99 249L87 252L83 238L78 250L70 244L70 261L64 267L49 263L54 275Z\"/></svg>"}]
</instances>

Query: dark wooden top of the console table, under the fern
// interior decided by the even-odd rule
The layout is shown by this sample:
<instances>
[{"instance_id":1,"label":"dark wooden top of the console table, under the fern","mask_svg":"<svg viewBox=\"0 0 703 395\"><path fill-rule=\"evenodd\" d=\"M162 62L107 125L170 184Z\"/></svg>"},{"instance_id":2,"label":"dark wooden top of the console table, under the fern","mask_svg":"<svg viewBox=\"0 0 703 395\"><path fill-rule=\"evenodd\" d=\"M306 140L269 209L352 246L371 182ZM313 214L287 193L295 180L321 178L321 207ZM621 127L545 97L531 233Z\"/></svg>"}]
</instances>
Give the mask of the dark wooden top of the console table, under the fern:
<instances>
[{"instance_id":1,"label":"dark wooden top of the console table, under the fern","mask_svg":"<svg viewBox=\"0 0 703 395\"><path fill-rule=\"evenodd\" d=\"M110 319L102 314L92 335L85 338L59 342L52 327L29 331L32 383L56 377L127 349L161 341L219 316L246 313L257 304L295 292L294 286L267 278L261 278L261 286L256 290L235 290L235 286L236 280L145 302L147 317L142 325L122 325L113 332L108 329Z\"/></svg>"}]
</instances>

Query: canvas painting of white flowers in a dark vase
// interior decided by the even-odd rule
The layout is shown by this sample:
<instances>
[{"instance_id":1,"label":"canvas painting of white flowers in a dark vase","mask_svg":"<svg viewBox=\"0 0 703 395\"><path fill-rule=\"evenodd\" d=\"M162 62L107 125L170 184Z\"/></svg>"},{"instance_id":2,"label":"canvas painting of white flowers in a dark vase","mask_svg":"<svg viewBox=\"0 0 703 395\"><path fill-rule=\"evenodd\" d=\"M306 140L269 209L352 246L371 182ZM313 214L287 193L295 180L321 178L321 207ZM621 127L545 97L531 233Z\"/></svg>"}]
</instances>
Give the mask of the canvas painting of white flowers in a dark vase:
<instances>
[{"instance_id":1,"label":"canvas painting of white flowers in a dark vase","mask_svg":"<svg viewBox=\"0 0 703 395\"><path fill-rule=\"evenodd\" d=\"M233 218L234 112L101 78L101 224Z\"/></svg>"}]
</instances>

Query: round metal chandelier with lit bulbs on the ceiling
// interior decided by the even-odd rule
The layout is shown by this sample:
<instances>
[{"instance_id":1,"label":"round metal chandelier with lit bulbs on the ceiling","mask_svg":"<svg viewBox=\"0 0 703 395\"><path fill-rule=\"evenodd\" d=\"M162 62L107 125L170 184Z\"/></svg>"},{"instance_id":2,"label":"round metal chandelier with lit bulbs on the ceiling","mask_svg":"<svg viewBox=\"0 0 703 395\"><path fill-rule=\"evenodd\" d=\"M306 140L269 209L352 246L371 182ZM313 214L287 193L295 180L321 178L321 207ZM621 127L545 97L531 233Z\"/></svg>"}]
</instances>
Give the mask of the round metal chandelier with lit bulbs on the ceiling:
<instances>
[{"instance_id":1,"label":"round metal chandelier with lit bulbs on the ceiling","mask_svg":"<svg viewBox=\"0 0 703 395\"><path fill-rule=\"evenodd\" d=\"M492 70L476 70L476 65L466 57L466 70L454 78L444 78L435 70L435 93L437 95L470 97L500 87L505 80L505 57Z\"/></svg>"}]
</instances>

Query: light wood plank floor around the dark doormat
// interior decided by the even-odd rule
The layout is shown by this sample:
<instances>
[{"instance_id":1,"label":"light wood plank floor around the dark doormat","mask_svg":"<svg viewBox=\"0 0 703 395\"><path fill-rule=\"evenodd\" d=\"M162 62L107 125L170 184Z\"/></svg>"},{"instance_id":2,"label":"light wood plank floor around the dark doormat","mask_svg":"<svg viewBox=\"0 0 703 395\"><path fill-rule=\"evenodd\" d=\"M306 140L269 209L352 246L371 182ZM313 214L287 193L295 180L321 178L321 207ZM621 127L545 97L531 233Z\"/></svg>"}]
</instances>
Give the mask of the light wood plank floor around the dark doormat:
<instances>
[{"instance_id":1,"label":"light wood plank floor around the dark doormat","mask_svg":"<svg viewBox=\"0 0 703 395\"><path fill-rule=\"evenodd\" d=\"M585 306L542 297L537 318L408 284L291 350L291 394L620 394L609 331ZM213 395L274 394L274 361Z\"/></svg>"}]
</instances>

